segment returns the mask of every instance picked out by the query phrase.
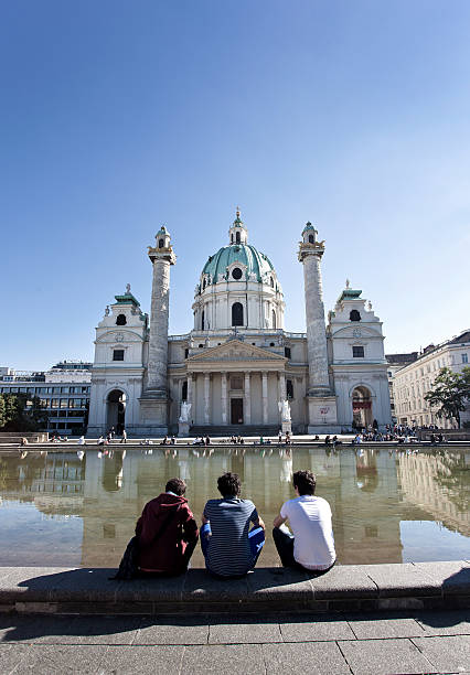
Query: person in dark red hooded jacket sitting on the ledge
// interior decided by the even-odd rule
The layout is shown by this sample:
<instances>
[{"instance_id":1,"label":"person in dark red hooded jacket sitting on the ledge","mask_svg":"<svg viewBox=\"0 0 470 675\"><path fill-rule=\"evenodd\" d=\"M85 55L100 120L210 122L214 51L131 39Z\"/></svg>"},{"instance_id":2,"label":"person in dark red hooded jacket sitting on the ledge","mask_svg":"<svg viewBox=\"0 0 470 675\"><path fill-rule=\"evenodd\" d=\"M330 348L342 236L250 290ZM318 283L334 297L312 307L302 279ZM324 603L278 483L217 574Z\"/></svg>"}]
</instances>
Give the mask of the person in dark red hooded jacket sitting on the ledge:
<instances>
[{"instance_id":1,"label":"person in dark red hooded jacket sitting on the ledge","mask_svg":"<svg viewBox=\"0 0 470 675\"><path fill-rule=\"evenodd\" d=\"M140 571L181 575L186 570L199 532L185 491L184 481L171 479L165 492L143 507L136 525Z\"/></svg>"}]
</instances>

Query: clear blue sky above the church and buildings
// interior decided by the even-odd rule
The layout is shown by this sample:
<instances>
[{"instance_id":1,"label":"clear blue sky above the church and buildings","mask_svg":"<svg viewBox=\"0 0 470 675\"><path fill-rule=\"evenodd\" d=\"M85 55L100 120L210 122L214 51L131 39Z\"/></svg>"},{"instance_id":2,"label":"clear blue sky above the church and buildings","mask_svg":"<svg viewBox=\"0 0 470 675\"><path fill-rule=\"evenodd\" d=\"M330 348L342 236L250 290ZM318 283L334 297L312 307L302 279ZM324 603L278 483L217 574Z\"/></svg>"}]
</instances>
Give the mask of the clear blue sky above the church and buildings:
<instances>
[{"instance_id":1,"label":"clear blue sky above the church and buildings","mask_svg":"<svg viewBox=\"0 0 470 675\"><path fill-rule=\"evenodd\" d=\"M241 205L305 330L298 240L327 240L386 352L470 325L468 0L15 0L0 9L0 365L92 358L165 223L170 330Z\"/></svg>"}]
</instances>

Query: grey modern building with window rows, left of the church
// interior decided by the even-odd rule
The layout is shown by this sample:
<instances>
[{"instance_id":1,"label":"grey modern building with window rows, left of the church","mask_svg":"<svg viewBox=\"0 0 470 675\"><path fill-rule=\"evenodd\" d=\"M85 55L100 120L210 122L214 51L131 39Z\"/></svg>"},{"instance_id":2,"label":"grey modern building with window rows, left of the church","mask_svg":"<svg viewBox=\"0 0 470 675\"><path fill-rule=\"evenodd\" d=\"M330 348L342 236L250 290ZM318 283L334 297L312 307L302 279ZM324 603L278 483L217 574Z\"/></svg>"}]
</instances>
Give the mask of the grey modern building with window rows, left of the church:
<instances>
[{"instance_id":1,"label":"grey modern building with window rows, left of the church","mask_svg":"<svg viewBox=\"0 0 470 675\"><path fill-rule=\"evenodd\" d=\"M0 369L0 394L38 396L47 411L46 431L82 433L87 424L92 364L62 361L50 371Z\"/></svg>"}]
</instances>

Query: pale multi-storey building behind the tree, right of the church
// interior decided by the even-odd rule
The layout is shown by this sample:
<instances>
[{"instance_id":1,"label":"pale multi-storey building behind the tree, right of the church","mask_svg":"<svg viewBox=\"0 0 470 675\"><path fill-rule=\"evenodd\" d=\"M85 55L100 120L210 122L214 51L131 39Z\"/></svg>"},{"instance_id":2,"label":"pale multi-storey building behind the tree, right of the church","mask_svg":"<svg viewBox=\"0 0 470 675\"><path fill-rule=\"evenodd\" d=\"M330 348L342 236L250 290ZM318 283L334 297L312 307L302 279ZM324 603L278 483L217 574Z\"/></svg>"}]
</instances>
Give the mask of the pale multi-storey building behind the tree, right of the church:
<instances>
[{"instance_id":1,"label":"pale multi-storey building behind the tree, right of the church","mask_svg":"<svg viewBox=\"0 0 470 675\"><path fill-rule=\"evenodd\" d=\"M456 428L453 420L437 417L436 410L425 400L425 395L432 388L440 368L448 367L460 373L469 365L469 358L470 331L466 330L441 344L430 344L415 361L399 368L393 377L397 421L419 427L436 425L444 429ZM470 401L467 410L461 414L460 421L470 421Z\"/></svg>"}]
</instances>

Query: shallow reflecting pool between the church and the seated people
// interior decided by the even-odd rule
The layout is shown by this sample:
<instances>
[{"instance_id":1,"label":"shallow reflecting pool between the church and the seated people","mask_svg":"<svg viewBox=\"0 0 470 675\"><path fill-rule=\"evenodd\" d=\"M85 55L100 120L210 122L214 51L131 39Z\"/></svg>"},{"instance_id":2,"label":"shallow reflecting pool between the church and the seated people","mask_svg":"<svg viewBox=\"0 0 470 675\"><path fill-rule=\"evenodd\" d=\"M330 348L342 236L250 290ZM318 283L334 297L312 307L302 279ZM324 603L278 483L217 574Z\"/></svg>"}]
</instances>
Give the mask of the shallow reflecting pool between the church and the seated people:
<instances>
[{"instance_id":1,"label":"shallow reflecting pool between the church and the seated people","mask_svg":"<svg viewBox=\"0 0 470 675\"><path fill-rule=\"evenodd\" d=\"M259 564L278 565L270 525L291 499L292 472L317 474L333 512L339 561L470 559L470 447L419 452L276 446L127 451L0 452L0 566L117 566L145 504L169 478L188 483L200 522L234 471L268 526ZM202 567L197 548L193 567Z\"/></svg>"}]
</instances>

